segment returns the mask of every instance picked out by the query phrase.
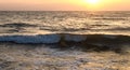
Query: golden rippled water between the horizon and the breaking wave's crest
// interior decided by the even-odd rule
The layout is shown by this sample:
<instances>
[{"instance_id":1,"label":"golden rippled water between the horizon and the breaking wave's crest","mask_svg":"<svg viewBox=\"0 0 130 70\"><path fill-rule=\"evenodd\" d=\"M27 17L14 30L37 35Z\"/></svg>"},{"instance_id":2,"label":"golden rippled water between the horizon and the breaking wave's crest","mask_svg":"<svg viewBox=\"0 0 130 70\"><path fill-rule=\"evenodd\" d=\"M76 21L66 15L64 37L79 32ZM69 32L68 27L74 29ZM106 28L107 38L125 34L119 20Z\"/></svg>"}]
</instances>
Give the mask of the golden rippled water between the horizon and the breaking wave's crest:
<instances>
[{"instance_id":1,"label":"golden rippled water between the horizon and the breaking wave's crest","mask_svg":"<svg viewBox=\"0 0 130 70\"><path fill-rule=\"evenodd\" d=\"M0 33L105 33L130 36L130 12L1 11Z\"/></svg>"}]
</instances>

